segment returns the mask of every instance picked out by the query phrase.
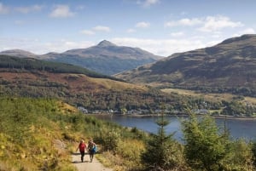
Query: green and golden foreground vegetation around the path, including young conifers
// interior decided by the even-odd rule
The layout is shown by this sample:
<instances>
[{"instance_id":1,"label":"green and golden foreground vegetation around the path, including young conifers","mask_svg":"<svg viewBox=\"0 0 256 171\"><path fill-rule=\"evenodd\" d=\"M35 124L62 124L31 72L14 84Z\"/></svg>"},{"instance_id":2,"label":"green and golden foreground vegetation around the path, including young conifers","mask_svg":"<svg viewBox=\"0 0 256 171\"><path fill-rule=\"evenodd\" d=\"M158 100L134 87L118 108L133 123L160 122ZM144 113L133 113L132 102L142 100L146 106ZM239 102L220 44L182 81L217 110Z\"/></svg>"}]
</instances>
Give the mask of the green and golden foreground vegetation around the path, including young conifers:
<instances>
[{"instance_id":1,"label":"green and golden foreground vegetation around the path, including young conifers","mask_svg":"<svg viewBox=\"0 0 256 171\"><path fill-rule=\"evenodd\" d=\"M256 143L232 140L212 117L189 113L183 144L166 134L162 113L157 134L124 128L79 113L60 100L0 98L0 170L75 171L71 153L92 137L96 157L114 171L253 171Z\"/></svg>"}]
</instances>

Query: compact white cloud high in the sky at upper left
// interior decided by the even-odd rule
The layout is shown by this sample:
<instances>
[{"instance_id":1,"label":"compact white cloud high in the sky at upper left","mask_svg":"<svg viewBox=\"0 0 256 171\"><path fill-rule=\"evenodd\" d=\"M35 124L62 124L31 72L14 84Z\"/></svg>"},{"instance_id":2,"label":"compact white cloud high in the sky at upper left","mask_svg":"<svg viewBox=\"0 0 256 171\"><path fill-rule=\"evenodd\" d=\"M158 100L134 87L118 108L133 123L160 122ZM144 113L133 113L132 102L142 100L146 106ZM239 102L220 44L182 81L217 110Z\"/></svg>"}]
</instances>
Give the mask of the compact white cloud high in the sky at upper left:
<instances>
[{"instance_id":1,"label":"compact white cloud high in the sky at upper left","mask_svg":"<svg viewBox=\"0 0 256 171\"><path fill-rule=\"evenodd\" d=\"M74 13L70 11L68 5L56 5L55 9L49 14L49 16L55 18L72 17L73 15Z\"/></svg>"}]
</instances>

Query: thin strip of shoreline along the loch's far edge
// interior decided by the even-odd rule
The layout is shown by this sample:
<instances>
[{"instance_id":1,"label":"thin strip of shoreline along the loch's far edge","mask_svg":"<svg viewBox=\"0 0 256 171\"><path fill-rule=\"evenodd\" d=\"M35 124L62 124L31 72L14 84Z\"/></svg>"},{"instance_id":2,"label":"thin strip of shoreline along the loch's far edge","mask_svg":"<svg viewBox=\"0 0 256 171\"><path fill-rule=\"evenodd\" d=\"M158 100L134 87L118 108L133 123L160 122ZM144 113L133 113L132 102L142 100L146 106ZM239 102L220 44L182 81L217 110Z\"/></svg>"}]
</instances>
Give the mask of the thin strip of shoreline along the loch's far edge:
<instances>
[{"instance_id":1,"label":"thin strip of shoreline along the loch's far edge","mask_svg":"<svg viewBox=\"0 0 256 171\"><path fill-rule=\"evenodd\" d=\"M100 113L100 114L86 114L88 116L123 116L123 117L160 117L161 114L108 114L108 113ZM189 117L189 114L166 114L165 116L168 117ZM207 116L203 114L196 114L196 116ZM237 119L237 120L255 120L256 117L236 117L236 116L225 116L225 115L218 115L218 116L210 116L214 118L220 119Z\"/></svg>"}]
</instances>

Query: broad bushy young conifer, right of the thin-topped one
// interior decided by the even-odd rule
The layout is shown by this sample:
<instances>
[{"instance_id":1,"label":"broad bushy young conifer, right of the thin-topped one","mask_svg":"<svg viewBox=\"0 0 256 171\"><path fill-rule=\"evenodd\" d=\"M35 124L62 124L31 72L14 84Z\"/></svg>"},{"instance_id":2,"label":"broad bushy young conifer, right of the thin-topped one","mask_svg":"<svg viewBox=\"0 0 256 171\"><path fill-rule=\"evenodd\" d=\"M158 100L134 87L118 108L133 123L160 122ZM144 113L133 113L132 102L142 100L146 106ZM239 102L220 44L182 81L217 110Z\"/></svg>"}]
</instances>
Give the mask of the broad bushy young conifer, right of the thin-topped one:
<instances>
[{"instance_id":1,"label":"broad bushy young conifer, right of the thin-topped one","mask_svg":"<svg viewBox=\"0 0 256 171\"><path fill-rule=\"evenodd\" d=\"M225 137L210 117L191 115L183 121L184 154L191 168L195 170L224 170Z\"/></svg>"}]
</instances>

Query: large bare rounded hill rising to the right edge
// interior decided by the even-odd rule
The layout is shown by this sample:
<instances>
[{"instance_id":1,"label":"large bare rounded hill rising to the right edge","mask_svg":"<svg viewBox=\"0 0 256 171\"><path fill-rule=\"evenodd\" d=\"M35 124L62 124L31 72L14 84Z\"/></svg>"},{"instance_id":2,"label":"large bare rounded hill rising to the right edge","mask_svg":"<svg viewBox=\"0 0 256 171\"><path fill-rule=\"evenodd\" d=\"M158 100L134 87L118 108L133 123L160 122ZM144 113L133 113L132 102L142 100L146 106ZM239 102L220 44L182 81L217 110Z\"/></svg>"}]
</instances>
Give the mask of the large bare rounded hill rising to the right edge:
<instances>
[{"instance_id":1,"label":"large bare rounded hill rising to the right edge","mask_svg":"<svg viewBox=\"0 0 256 171\"><path fill-rule=\"evenodd\" d=\"M158 87L256 96L256 35L233 37L209 48L172 54L115 77Z\"/></svg>"}]
</instances>

